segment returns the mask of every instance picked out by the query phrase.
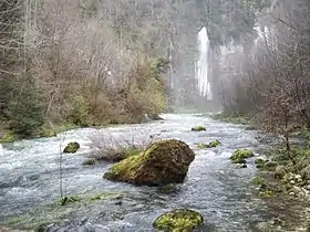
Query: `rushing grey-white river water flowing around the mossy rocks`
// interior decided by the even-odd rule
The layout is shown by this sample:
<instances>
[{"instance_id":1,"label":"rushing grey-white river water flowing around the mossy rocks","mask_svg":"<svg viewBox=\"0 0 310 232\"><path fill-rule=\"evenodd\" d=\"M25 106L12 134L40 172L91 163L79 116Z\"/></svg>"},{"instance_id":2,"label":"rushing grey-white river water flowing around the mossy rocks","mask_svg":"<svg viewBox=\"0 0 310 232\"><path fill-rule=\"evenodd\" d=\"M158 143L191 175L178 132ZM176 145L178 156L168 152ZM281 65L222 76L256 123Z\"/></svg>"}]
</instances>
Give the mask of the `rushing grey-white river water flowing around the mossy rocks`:
<instances>
[{"instance_id":1,"label":"rushing grey-white river water flowing around the mossy rocks","mask_svg":"<svg viewBox=\"0 0 310 232\"><path fill-rule=\"evenodd\" d=\"M250 159L245 169L236 169L229 160L237 148L250 148L259 155L262 145L256 139L258 131L199 115L167 114L163 117L163 122L75 129L53 138L0 146L0 222L24 229L34 220L33 215L41 214L51 222L61 219L58 226L50 226L49 231L153 231L152 222L161 213L186 207L203 214L205 226L202 231L254 231L252 223L272 218L272 209L249 188L257 171L255 159ZM190 131L197 125L207 130ZM111 182L102 178L111 164L82 166L85 155L91 152L92 138L104 135L135 141L145 140L149 135L155 139L180 139L194 149L196 158L185 182L172 192ZM215 139L220 140L221 146L206 150L195 146ZM60 196L60 150L69 141L80 143L81 148L74 155L63 155L65 193L121 192L124 196L122 201L103 200L75 208L65 207L61 212L45 207ZM17 215L29 218L25 222L18 219L16 223L8 222L10 217Z\"/></svg>"}]
</instances>

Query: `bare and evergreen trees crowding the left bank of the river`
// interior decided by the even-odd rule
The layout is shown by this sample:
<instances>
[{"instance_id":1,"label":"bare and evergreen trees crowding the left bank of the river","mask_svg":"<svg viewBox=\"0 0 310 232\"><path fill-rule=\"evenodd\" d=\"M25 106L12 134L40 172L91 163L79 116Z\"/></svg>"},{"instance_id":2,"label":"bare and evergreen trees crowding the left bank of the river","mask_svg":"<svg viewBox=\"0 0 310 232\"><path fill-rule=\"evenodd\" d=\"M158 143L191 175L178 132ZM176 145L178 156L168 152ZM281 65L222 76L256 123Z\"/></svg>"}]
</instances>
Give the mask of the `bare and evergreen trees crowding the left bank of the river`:
<instances>
[{"instance_id":1,"label":"bare and evergreen trees crowding the left bank of the river","mask_svg":"<svg viewBox=\"0 0 310 232\"><path fill-rule=\"evenodd\" d=\"M165 110L165 28L155 30L148 9L121 4L1 1L2 136L140 123Z\"/></svg>"}]
</instances>

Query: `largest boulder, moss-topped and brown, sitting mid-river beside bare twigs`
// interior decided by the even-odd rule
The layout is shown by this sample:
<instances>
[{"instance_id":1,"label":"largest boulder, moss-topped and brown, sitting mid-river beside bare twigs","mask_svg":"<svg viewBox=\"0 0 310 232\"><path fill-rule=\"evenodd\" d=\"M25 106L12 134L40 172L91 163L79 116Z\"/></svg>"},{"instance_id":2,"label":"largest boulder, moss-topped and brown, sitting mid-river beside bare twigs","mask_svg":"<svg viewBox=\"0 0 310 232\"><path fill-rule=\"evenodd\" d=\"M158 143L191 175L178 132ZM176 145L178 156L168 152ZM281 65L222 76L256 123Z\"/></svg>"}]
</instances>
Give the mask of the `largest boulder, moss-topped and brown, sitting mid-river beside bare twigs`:
<instances>
[{"instance_id":1,"label":"largest boulder, moss-topped and brown, sitting mid-river beside bare twigs","mask_svg":"<svg viewBox=\"0 0 310 232\"><path fill-rule=\"evenodd\" d=\"M194 151L184 141L162 140L113 165L104 177L113 181L146 186L182 183L194 159Z\"/></svg>"}]
</instances>

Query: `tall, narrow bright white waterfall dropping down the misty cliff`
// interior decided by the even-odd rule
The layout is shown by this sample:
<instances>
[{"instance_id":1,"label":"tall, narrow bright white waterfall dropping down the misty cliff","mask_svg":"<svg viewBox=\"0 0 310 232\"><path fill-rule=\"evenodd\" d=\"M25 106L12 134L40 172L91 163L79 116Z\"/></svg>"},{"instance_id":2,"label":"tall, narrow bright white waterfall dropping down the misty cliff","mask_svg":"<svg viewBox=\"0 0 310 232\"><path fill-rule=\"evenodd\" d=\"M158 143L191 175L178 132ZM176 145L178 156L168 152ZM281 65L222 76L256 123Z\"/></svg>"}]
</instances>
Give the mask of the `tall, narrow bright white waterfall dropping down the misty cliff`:
<instances>
[{"instance_id":1,"label":"tall, narrow bright white waterfall dropping down the misty cliff","mask_svg":"<svg viewBox=\"0 0 310 232\"><path fill-rule=\"evenodd\" d=\"M198 82L198 89L202 96L206 96L208 101L211 101L211 86L210 75L208 66L208 54L210 50L210 41L208 38L207 29L204 27L198 32L198 59L196 61L195 77Z\"/></svg>"}]
</instances>

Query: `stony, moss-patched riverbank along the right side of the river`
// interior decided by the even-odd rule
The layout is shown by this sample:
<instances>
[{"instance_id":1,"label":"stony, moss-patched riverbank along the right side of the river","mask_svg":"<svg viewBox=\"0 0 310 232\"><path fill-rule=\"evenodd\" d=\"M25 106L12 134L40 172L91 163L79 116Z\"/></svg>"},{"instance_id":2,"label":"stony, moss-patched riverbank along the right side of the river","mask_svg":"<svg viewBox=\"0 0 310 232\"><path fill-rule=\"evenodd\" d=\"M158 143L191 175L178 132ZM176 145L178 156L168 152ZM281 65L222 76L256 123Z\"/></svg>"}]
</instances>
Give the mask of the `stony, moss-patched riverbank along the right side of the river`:
<instances>
[{"instance_id":1,"label":"stony, moss-patched riverbank along the right side of the river","mask_svg":"<svg viewBox=\"0 0 310 232\"><path fill-rule=\"evenodd\" d=\"M213 115L214 119L244 125L248 129L260 128L259 124L248 116ZM260 140L260 139L258 139ZM252 179L257 194L267 202L279 201L277 221L266 222L270 230L296 226L296 231L309 231L310 223L310 133L294 129L291 131L289 148L281 139L264 149L255 160L258 172ZM265 143L264 139L260 143ZM292 220L282 217L282 211L292 211ZM272 229L272 230L273 230Z\"/></svg>"}]
</instances>

